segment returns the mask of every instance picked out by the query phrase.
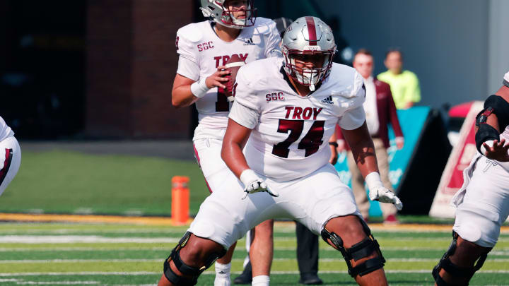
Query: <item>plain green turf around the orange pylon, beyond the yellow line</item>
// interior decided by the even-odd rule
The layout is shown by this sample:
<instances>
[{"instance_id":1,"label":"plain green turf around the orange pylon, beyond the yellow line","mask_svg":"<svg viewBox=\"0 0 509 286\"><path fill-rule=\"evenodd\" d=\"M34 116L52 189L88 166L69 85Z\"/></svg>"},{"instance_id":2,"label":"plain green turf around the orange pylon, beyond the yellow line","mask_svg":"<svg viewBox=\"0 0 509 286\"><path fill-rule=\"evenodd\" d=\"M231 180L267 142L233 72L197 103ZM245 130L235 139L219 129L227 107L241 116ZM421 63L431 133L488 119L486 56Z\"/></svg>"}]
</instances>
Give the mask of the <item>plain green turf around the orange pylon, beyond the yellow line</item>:
<instances>
[{"instance_id":1,"label":"plain green turf around the orange pylon, beyond the yellow line","mask_svg":"<svg viewBox=\"0 0 509 286\"><path fill-rule=\"evenodd\" d=\"M209 195L194 161L58 150L22 156L0 196L2 213L170 215L176 175L190 178L190 213Z\"/></svg>"}]
</instances>

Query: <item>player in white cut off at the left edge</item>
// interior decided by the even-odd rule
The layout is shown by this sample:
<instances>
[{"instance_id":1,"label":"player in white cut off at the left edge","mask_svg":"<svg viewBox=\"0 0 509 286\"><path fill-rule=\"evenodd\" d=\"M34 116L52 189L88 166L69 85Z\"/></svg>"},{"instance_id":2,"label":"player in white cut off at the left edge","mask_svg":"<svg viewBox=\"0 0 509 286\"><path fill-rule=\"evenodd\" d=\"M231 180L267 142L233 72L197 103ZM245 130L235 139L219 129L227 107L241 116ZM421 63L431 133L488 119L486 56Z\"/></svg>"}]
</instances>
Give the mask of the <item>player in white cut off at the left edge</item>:
<instances>
[{"instance_id":1,"label":"player in white cut off at the left edge","mask_svg":"<svg viewBox=\"0 0 509 286\"><path fill-rule=\"evenodd\" d=\"M21 164L21 148L14 132L0 117L0 195L18 173Z\"/></svg>"}]
</instances>

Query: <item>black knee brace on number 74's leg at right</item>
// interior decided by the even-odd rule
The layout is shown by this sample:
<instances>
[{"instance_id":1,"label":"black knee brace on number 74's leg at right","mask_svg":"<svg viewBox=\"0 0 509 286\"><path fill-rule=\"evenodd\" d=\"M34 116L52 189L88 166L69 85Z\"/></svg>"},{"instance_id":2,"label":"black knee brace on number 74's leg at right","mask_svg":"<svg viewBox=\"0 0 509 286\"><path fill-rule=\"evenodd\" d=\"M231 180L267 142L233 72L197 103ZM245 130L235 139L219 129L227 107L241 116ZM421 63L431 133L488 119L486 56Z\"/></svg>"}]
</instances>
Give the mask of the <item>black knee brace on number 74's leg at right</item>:
<instances>
[{"instance_id":1,"label":"black knee brace on number 74's leg at right","mask_svg":"<svg viewBox=\"0 0 509 286\"><path fill-rule=\"evenodd\" d=\"M343 240L334 232L329 232L324 228L321 233L322 239L325 242L329 243L327 239L330 239L332 244L334 244L334 246L336 246L337 249L341 251L343 258L346 261L346 266L349 268L349 274L353 278L355 278L357 275L363 276L377 269L380 269L384 266L385 263L385 258L382 256L382 251L380 251L380 245L376 239L373 238L373 234L371 234L370 228L363 220L361 220L361 224L363 225L364 232L368 235L368 237L362 242L353 244L353 246L351 246L349 249L343 247ZM373 251L376 251L378 254L377 257L368 259L367 261L358 264L356 267L352 267L350 262L351 259L353 259L353 261L358 261L361 258L369 256L373 253Z\"/></svg>"}]
</instances>

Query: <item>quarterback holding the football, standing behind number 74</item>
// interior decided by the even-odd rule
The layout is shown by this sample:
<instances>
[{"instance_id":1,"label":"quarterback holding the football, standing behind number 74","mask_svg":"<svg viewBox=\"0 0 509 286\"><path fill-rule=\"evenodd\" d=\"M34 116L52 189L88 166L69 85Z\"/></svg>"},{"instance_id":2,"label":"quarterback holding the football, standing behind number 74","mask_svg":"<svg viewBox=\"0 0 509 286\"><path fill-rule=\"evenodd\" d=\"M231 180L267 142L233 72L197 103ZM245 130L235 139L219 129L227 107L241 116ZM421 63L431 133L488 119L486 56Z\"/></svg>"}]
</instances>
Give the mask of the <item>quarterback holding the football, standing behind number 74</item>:
<instances>
[{"instance_id":1,"label":"quarterback holding the football, standing behind number 74","mask_svg":"<svg viewBox=\"0 0 509 286\"><path fill-rule=\"evenodd\" d=\"M251 0L201 0L201 11L210 20L192 23L177 31L179 64L173 83L172 104L187 107L196 104L199 125L194 131L195 157L210 191L221 191L221 184L230 170L221 159L221 145L228 124L231 102L225 94L223 76L225 64L234 54L248 63L269 56L281 56L276 23L256 18ZM257 273L268 275L272 258L272 222L257 227L257 242L264 247L254 248L254 261L260 261ZM230 285L228 254L216 263L216 286ZM261 256L258 258L257 256ZM258 266L262 269L258 270Z\"/></svg>"}]
</instances>

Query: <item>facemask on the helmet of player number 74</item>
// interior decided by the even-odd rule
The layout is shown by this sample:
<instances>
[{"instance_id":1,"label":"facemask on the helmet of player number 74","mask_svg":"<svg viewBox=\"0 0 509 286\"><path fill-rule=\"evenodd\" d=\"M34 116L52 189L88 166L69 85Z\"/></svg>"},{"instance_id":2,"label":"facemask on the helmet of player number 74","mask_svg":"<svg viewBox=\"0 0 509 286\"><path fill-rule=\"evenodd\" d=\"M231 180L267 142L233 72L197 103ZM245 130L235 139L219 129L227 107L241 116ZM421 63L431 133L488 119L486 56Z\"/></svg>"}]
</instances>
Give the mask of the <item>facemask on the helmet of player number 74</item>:
<instances>
[{"instance_id":1,"label":"facemask on the helmet of player number 74","mask_svg":"<svg viewBox=\"0 0 509 286\"><path fill-rule=\"evenodd\" d=\"M293 78L293 80L297 81L301 85L309 86L311 91L315 91L315 86L322 83L322 81L329 76L330 69L332 68L332 58L334 57L335 52L335 47L328 51L299 51L283 47L283 54L285 57L284 69L286 74ZM316 62L322 62L322 65L320 66L320 64L317 64L317 66L320 67L315 68L300 68L296 65L296 55L298 54L308 54L321 57L322 59L318 59Z\"/></svg>"}]
</instances>

